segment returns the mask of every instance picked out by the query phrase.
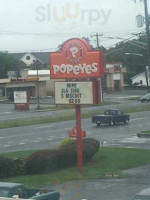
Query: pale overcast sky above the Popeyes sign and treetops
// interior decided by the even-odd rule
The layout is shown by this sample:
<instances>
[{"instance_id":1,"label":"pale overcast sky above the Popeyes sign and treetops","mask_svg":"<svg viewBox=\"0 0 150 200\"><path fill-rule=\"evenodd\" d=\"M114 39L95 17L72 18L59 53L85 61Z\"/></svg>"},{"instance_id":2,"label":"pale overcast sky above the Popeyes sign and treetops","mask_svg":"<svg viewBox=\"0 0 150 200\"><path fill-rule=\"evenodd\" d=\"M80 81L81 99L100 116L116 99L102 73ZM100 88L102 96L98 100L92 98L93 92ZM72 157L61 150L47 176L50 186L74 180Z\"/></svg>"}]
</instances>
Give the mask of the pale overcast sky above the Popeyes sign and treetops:
<instances>
[{"instance_id":1,"label":"pale overcast sky above the Popeyes sign and treetops","mask_svg":"<svg viewBox=\"0 0 150 200\"><path fill-rule=\"evenodd\" d=\"M120 40L108 37L144 29L135 20L143 11L140 0L0 0L0 51L53 51L69 38L96 33L109 47Z\"/></svg>"}]
</instances>

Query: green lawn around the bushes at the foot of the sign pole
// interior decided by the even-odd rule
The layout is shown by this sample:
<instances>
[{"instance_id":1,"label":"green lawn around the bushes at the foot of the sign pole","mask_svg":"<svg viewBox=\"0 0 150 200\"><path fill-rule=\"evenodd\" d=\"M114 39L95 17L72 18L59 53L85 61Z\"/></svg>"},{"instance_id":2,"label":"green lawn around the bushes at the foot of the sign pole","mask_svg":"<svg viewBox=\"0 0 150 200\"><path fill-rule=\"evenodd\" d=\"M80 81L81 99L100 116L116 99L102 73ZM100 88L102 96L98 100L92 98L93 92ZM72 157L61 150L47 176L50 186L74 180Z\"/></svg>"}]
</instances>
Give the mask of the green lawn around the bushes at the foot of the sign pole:
<instances>
[{"instance_id":1,"label":"green lawn around the bushes at the foot of the sign pole","mask_svg":"<svg viewBox=\"0 0 150 200\"><path fill-rule=\"evenodd\" d=\"M32 152L14 152L3 154L8 157L27 157ZM77 167L61 169L41 175L24 175L2 179L0 181L19 182L28 187L48 187L52 184L64 183L71 180L89 180L101 178L127 177L122 170L150 164L150 150L127 148L100 148L93 160L84 164L83 171Z\"/></svg>"}]
</instances>

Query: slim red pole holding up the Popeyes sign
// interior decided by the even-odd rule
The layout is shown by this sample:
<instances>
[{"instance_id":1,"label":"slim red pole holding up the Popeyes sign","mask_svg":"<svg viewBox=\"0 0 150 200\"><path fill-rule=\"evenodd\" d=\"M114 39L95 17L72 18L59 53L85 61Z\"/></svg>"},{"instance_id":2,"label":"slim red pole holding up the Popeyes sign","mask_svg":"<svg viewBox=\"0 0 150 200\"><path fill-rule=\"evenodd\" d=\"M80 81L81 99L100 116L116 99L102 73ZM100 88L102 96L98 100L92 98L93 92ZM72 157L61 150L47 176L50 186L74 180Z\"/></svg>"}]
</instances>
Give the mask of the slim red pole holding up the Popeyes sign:
<instances>
[{"instance_id":1,"label":"slim red pole holding up the Popeyes sign","mask_svg":"<svg viewBox=\"0 0 150 200\"><path fill-rule=\"evenodd\" d=\"M82 137L81 137L81 108L80 105L75 106L76 109L76 128L77 128L77 159L78 159L78 170L82 170L83 159L82 159Z\"/></svg>"}]
</instances>

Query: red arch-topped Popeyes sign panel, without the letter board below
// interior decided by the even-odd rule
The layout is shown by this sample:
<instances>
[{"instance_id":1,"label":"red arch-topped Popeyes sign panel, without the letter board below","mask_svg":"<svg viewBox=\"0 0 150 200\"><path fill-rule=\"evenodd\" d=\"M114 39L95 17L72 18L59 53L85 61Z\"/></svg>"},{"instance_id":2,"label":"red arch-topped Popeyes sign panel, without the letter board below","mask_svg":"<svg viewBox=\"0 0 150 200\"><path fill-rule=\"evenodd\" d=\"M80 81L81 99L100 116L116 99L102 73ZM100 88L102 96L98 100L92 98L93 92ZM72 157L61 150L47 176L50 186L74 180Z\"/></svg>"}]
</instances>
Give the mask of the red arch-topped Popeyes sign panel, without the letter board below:
<instances>
[{"instance_id":1,"label":"red arch-topped Popeyes sign panel, without the letter board below","mask_svg":"<svg viewBox=\"0 0 150 200\"><path fill-rule=\"evenodd\" d=\"M70 39L59 52L50 53L53 79L100 78L104 75L104 54L93 51L86 40Z\"/></svg>"}]
</instances>

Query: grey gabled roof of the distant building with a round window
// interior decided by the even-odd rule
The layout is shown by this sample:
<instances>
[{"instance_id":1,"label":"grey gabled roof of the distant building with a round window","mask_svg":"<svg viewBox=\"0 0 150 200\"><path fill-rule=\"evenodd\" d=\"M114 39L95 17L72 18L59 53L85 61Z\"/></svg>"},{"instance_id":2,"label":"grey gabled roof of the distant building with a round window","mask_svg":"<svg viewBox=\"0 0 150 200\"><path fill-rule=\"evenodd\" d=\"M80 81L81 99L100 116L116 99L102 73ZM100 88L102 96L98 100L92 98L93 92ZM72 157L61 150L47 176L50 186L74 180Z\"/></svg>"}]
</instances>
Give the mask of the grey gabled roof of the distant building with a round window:
<instances>
[{"instance_id":1,"label":"grey gabled roof of the distant building with a round window","mask_svg":"<svg viewBox=\"0 0 150 200\"><path fill-rule=\"evenodd\" d=\"M47 67L49 66L49 52L24 52L24 53L9 53L15 59L20 60L26 53L32 54L38 60L41 60Z\"/></svg>"}]
</instances>

